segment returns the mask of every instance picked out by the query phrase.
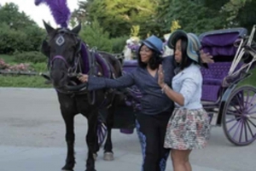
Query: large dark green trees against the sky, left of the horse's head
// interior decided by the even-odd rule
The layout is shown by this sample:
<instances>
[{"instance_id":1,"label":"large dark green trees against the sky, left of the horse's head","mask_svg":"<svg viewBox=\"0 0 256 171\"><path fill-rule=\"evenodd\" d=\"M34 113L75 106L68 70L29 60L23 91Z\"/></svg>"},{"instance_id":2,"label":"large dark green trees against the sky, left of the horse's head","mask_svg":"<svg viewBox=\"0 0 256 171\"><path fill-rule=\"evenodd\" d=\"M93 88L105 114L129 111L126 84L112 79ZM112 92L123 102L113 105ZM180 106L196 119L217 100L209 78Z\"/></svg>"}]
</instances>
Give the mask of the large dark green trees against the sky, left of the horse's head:
<instances>
[{"instance_id":1,"label":"large dark green trees against the sky, left of the horse's head","mask_svg":"<svg viewBox=\"0 0 256 171\"><path fill-rule=\"evenodd\" d=\"M0 54L15 51L37 51L44 38L44 30L15 3L6 3L0 9Z\"/></svg>"}]
</instances>

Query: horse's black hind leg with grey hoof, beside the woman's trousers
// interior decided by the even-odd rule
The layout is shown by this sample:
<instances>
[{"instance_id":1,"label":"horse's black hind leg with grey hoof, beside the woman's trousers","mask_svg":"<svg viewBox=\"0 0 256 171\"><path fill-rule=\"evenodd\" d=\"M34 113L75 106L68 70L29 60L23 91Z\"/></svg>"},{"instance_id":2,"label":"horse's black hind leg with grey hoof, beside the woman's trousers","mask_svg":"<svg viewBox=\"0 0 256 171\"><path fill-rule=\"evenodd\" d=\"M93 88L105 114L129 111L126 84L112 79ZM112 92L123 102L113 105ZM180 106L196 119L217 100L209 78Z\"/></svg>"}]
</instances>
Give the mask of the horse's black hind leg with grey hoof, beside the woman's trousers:
<instances>
[{"instance_id":1,"label":"horse's black hind leg with grey hoof, beside the woman's trousers","mask_svg":"<svg viewBox=\"0 0 256 171\"><path fill-rule=\"evenodd\" d=\"M103 159L105 161L113 161L113 145L112 145L112 139L111 139L111 133L112 133L112 128L113 128L113 119L114 119L114 111L115 111L115 106L112 105L108 109L108 115L106 119L107 123L107 140L104 145L104 157Z\"/></svg>"}]
</instances>

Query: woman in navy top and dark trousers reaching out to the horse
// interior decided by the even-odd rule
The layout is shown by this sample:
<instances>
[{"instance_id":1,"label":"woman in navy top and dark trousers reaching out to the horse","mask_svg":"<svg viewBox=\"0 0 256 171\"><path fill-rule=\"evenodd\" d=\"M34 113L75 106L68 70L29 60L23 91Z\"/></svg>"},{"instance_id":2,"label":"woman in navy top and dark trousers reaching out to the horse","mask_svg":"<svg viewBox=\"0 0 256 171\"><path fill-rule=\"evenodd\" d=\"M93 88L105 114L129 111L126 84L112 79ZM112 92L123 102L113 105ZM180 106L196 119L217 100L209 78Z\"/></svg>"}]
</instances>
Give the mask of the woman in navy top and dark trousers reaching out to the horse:
<instances>
[{"instance_id":1,"label":"woman in navy top and dark trousers reaching out to the horse","mask_svg":"<svg viewBox=\"0 0 256 171\"><path fill-rule=\"evenodd\" d=\"M108 79L104 77L79 77L88 82L88 90L101 88L127 88L136 85L143 94L142 110L137 114L137 132L143 151L143 171L164 171L169 149L164 148L166 125L174 109L173 102L162 94L158 84L160 64L166 73L164 82L172 85L174 63L172 57L161 58L163 43L159 37L151 36L143 41L138 49L138 67L123 77ZM209 59L207 55L206 59Z\"/></svg>"}]
</instances>

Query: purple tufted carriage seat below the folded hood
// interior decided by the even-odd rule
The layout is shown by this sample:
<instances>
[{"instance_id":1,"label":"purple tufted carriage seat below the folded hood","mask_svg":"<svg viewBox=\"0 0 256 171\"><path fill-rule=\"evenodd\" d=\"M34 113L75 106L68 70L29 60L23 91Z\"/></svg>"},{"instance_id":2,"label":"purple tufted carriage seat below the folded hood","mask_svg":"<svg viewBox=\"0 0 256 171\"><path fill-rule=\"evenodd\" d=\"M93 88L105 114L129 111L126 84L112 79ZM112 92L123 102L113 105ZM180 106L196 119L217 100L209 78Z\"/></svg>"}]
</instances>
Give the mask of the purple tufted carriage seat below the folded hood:
<instances>
[{"instance_id":1,"label":"purple tufted carriage seat below the folded hood","mask_svg":"<svg viewBox=\"0 0 256 171\"><path fill-rule=\"evenodd\" d=\"M224 77L230 71L231 62L215 62L208 64L208 68L201 68L203 77L201 100L217 101Z\"/></svg>"}]
</instances>

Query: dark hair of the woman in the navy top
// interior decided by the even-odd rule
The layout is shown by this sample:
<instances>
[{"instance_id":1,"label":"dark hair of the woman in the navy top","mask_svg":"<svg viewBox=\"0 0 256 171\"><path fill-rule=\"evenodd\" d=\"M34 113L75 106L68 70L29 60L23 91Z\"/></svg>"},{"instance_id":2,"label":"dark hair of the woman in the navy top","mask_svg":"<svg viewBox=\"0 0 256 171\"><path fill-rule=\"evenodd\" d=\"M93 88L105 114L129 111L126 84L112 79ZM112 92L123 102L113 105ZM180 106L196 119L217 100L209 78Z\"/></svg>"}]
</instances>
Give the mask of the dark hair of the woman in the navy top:
<instances>
[{"instance_id":1,"label":"dark hair of the woman in the navy top","mask_svg":"<svg viewBox=\"0 0 256 171\"><path fill-rule=\"evenodd\" d=\"M138 63L138 66L139 67L142 67L142 68L146 68L147 66L149 66L149 68L151 70L155 70L158 68L158 66L162 63L162 58L161 58L161 55L159 52L157 52L156 50L152 49L152 48L149 48L150 50L153 51L153 54L151 56L151 58L148 60L148 64L147 63L144 63L142 61L142 57L141 57L141 54L140 54L140 51L141 51L141 48L143 47L143 45L145 44L142 44L140 46L140 48L138 48L137 50L137 63ZM145 45L146 46L146 45Z\"/></svg>"}]
</instances>

